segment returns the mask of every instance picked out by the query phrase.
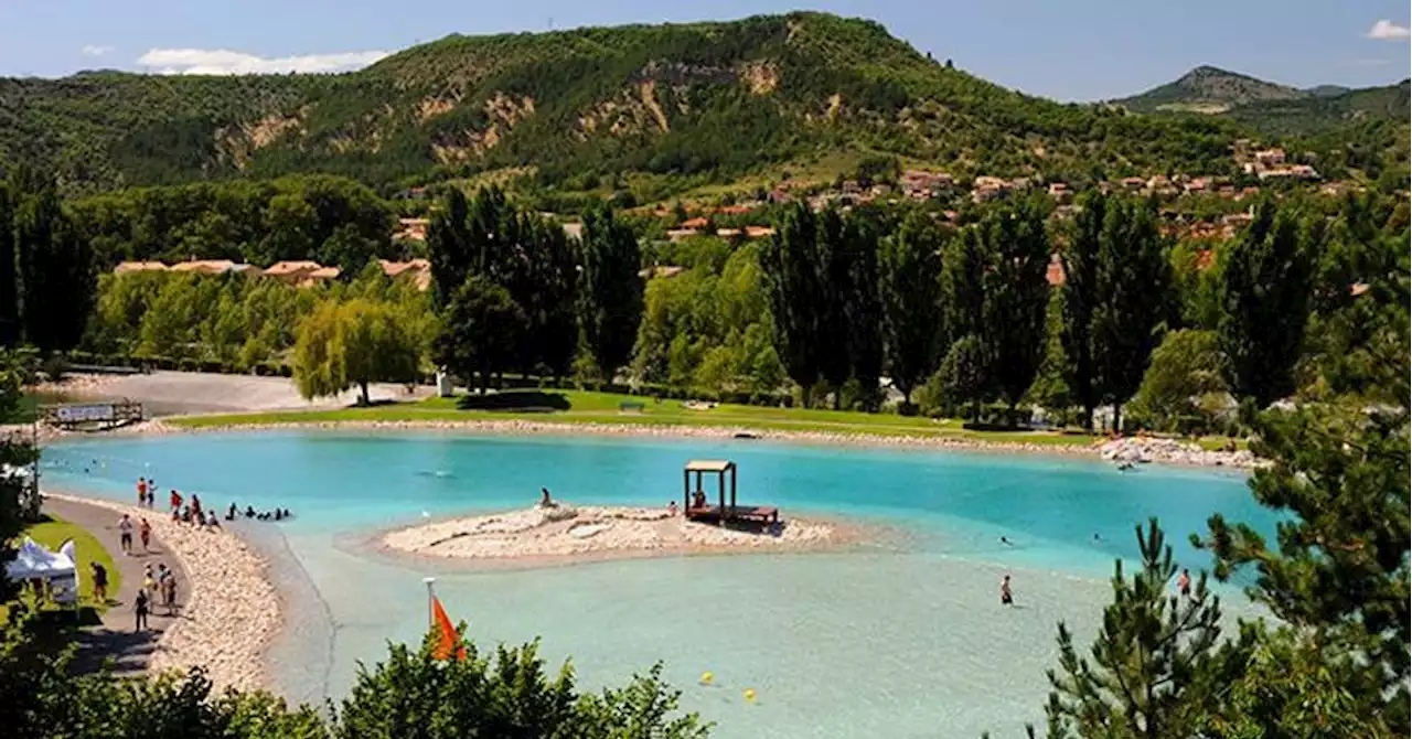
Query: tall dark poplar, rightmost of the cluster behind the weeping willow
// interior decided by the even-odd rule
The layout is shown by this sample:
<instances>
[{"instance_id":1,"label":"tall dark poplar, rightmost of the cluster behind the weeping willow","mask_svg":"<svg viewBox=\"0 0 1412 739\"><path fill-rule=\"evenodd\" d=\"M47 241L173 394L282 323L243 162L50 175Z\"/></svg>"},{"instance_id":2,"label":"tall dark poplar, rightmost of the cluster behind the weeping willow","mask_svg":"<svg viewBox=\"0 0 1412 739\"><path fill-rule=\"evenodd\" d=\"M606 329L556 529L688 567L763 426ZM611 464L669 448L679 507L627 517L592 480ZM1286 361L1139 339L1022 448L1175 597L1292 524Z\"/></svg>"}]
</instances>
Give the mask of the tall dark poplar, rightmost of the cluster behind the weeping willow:
<instances>
[{"instance_id":1,"label":"tall dark poplar, rightmost of the cluster behind the weeping willow","mask_svg":"<svg viewBox=\"0 0 1412 739\"><path fill-rule=\"evenodd\" d=\"M633 229L599 206L583 216L579 325L604 380L633 355L642 318L641 253Z\"/></svg>"}]
</instances>

